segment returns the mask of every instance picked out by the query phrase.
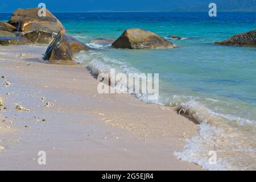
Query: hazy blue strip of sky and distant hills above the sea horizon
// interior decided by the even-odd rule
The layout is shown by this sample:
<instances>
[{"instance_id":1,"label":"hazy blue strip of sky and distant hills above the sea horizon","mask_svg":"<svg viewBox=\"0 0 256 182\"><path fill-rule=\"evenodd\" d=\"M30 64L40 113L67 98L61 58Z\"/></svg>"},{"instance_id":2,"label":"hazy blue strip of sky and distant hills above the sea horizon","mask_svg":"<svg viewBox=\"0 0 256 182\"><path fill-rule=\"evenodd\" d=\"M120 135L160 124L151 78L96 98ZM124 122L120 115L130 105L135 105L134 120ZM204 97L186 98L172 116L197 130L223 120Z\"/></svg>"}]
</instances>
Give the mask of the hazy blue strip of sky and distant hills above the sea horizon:
<instances>
[{"instance_id":1,"label":"hazy blue strip of sky and distant hills above the sea horizon","mask_svg":"<svg viewBox=\"0 0 256 182\"><path fill-rule=\"evenodd\" d=\"M1 0L0 12L36 7L40 2L52 12L208 11L210 2L222 11L256 11L256 0Z\"/></svg>"}]
</instances>

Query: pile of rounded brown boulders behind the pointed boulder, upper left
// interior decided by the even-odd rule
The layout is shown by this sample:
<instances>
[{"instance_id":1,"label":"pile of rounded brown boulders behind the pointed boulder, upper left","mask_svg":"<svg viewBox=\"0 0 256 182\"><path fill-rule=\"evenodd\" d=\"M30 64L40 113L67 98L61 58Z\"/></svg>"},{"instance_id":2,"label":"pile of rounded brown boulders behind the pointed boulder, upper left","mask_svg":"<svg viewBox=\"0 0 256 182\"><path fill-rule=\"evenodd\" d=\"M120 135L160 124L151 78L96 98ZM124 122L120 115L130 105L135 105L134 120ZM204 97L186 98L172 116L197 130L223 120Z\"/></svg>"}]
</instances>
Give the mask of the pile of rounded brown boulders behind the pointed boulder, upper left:
<instances>
[{"instance_id":1,"label":"pile of rounded brown boulders behind the pointed boulder, upper left","mask_svg":"<svg viewBox=\"0 0 256 182\"><path fill-rule=\"evenodd\" d=\"M49 44L63 24L46 10L46 16L38 16L38 8L18 9L9 22L0 22L0 45Z\"/></svg>"}]
</instances>

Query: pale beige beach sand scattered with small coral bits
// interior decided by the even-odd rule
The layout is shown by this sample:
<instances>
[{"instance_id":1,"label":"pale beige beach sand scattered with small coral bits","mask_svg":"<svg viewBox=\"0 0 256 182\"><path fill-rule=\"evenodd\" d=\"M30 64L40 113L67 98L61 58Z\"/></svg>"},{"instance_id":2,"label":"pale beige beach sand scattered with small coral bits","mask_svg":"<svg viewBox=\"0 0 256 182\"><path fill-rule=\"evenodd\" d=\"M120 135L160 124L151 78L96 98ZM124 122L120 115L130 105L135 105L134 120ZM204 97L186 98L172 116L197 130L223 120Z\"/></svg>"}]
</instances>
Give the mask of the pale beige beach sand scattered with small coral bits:
<instances>
[{"instance_id":1,"label":"pale beige beach sand scattered with small coral bits","mask_svg":"<svg viewBox=\"0 0 256 182\"><path fill-rule=\"evenodd\" d=\"M201 170L172 154L197 134L193 121L130 94L98 94L84 66L43 61L46 48L0 47L0 75L11 84L0 80L1 170Z\"/></svg>"}]
</instances>

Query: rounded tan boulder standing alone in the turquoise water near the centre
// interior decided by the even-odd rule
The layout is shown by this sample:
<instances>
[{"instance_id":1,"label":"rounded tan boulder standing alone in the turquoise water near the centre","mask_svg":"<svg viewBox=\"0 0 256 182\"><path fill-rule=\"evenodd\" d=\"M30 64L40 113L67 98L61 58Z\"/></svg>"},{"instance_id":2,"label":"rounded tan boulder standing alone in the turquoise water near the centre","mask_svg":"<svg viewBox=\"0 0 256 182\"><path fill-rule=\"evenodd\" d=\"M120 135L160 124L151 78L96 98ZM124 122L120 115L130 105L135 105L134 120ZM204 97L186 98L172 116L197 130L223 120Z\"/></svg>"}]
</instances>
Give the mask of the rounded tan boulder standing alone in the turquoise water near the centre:
<instances>
[{"instance_id":1,"label":"rounded tan boulder standing alone in the turquoise water near the centre","mask_svg":"<svg viewBox=\"0 0 256 182\"><path fill-rule=\"evenodd\" d=\"M175 44L168 42L161 36L139 28L127 29L112 45L115 48L128 49L177 48Z\"/></svg>"}]
</instances>

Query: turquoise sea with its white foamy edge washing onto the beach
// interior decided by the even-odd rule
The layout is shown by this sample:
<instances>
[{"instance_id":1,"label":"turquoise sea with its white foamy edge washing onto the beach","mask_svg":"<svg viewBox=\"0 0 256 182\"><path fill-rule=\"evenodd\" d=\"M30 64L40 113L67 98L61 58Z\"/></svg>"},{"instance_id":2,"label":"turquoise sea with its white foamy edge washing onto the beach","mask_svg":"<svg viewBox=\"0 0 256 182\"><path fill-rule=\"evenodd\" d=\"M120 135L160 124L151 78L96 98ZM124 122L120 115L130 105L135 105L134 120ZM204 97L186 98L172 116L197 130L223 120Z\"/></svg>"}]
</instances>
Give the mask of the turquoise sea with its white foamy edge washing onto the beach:
<instances>
[{"instance_id":1,"label":"turquoise sea with its white foamy edge washing onto the beach","mask_svg":"<svg viewBox=\"0 0 256 182\"><path fill-rule=\"evenodd\" d=\"M69 34L88 43L118 38L131 27L170 40L178 49L129 50L88 44L95 51L77 60L98 72L159 73L156 104L179 106L200 122L178 158L208 169L256 169L256 48L212 44L256 29L256 13L57 13ZM0 15L7 20L9 15ZM146 96L139 96L148 101ZM215 151L217 164L209 164Z\"/></svg>"}]
</instances>

